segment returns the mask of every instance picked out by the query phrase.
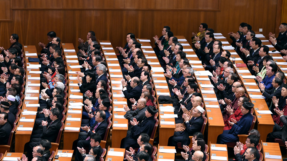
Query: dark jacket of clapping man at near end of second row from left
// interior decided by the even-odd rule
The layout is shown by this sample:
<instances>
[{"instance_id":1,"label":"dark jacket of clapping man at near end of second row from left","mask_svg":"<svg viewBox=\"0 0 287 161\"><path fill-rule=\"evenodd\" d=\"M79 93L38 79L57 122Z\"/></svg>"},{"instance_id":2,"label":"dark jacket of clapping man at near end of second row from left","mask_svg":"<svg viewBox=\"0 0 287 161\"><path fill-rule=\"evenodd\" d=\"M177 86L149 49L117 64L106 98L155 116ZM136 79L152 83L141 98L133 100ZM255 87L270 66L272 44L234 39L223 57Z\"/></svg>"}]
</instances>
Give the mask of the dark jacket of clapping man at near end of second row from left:
<instances>
[{"instance_id":1,"label":"dark jacket of clapping man at near end of second row from left","mask_svg":"<svg viewBox=\"0 0 287 161\"><path fill-rule=\"evenodd\" d=\"M49 124L49 126L43 126L42 139L47 139L51 143L55 143L61 126L60 119L55 120L53 123Z\"/></svg>"}]
</instances>

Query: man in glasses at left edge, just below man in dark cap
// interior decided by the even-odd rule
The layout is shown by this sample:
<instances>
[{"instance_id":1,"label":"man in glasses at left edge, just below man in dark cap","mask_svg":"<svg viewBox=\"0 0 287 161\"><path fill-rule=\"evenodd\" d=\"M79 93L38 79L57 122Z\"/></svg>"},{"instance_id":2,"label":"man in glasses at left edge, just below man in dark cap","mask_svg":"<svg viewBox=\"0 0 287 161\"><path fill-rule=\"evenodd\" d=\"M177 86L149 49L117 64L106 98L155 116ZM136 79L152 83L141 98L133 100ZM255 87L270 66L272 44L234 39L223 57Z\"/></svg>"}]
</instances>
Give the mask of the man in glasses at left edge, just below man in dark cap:
<instances>
[{"instance_id":1,"label":"man in glasses at left edge, just below man in dark cap","mask_svg":"<svg viewBox=\"0 0 287 161\"><path fill-rule=\"evenodd\" d=\"M7 145L9 135L11 133L12 127L8 122L8 114L6 112L0 113L0 145Z\"/></svg>"}]
</instances>

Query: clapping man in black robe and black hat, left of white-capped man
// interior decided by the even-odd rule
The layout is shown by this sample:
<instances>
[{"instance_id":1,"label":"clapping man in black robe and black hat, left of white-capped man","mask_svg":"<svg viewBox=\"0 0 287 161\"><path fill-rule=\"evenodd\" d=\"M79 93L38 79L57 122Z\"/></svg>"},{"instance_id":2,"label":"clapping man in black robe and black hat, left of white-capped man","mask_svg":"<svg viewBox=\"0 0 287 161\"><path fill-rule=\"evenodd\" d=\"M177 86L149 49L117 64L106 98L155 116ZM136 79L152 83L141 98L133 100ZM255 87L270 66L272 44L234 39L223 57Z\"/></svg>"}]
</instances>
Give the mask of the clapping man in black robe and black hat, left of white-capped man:
<instances>
[{"instance_id":1,"label":"clapping man in black robe and black hat, left of white-capped man","mask_svg":"<svg viewBox=\"0 0 287 161\"><path fill-rule=\"evenodd\" d=\"M122 140L121 148L138 148L139 145L137 143L137 139L143 132L148 134L149 137L152 137L152 131L155 126L154 115L157 112L158 109L156 109L154 106L148 106L145 112L146 118L141 123L138 123L135 118L130 121L131 125L133 126L132 131Z\"/></svg>"}]
</instances>

